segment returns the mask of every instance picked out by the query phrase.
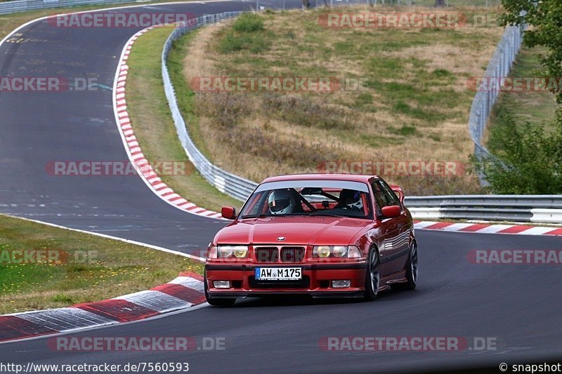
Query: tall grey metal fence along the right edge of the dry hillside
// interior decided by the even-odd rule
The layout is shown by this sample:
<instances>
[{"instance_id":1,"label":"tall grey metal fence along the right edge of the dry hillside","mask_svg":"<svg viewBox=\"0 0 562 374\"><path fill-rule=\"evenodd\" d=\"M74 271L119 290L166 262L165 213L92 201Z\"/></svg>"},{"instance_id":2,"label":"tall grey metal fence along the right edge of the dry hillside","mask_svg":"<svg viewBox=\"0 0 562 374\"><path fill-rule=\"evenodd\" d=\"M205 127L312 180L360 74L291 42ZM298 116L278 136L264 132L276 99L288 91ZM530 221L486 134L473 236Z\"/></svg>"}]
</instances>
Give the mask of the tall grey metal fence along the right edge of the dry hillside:
<instances>
[{"instance_id":1,"label":"tall grey metal fence along the right edge of the dry hillside","mask_svg":"<svg viewBox=\"0 0 562 374\"><path fill-rule=\"evenodd\" d=\"M501 79L509 74L523 41L523 29L521 27L506 27L502 40L499 41L496 51L488 64L483 79ZM478 87L476 87L478 90ZM497 100L499 90L486 89L478 91L472 101L469 117L469 132L474 142L474 155L476 157L489 156L490 152L482 145L482 137L485 133L488 120L492 113L492 107ZM481 179L481 183L483 180Z\"/></svg>"}]
</instances>

